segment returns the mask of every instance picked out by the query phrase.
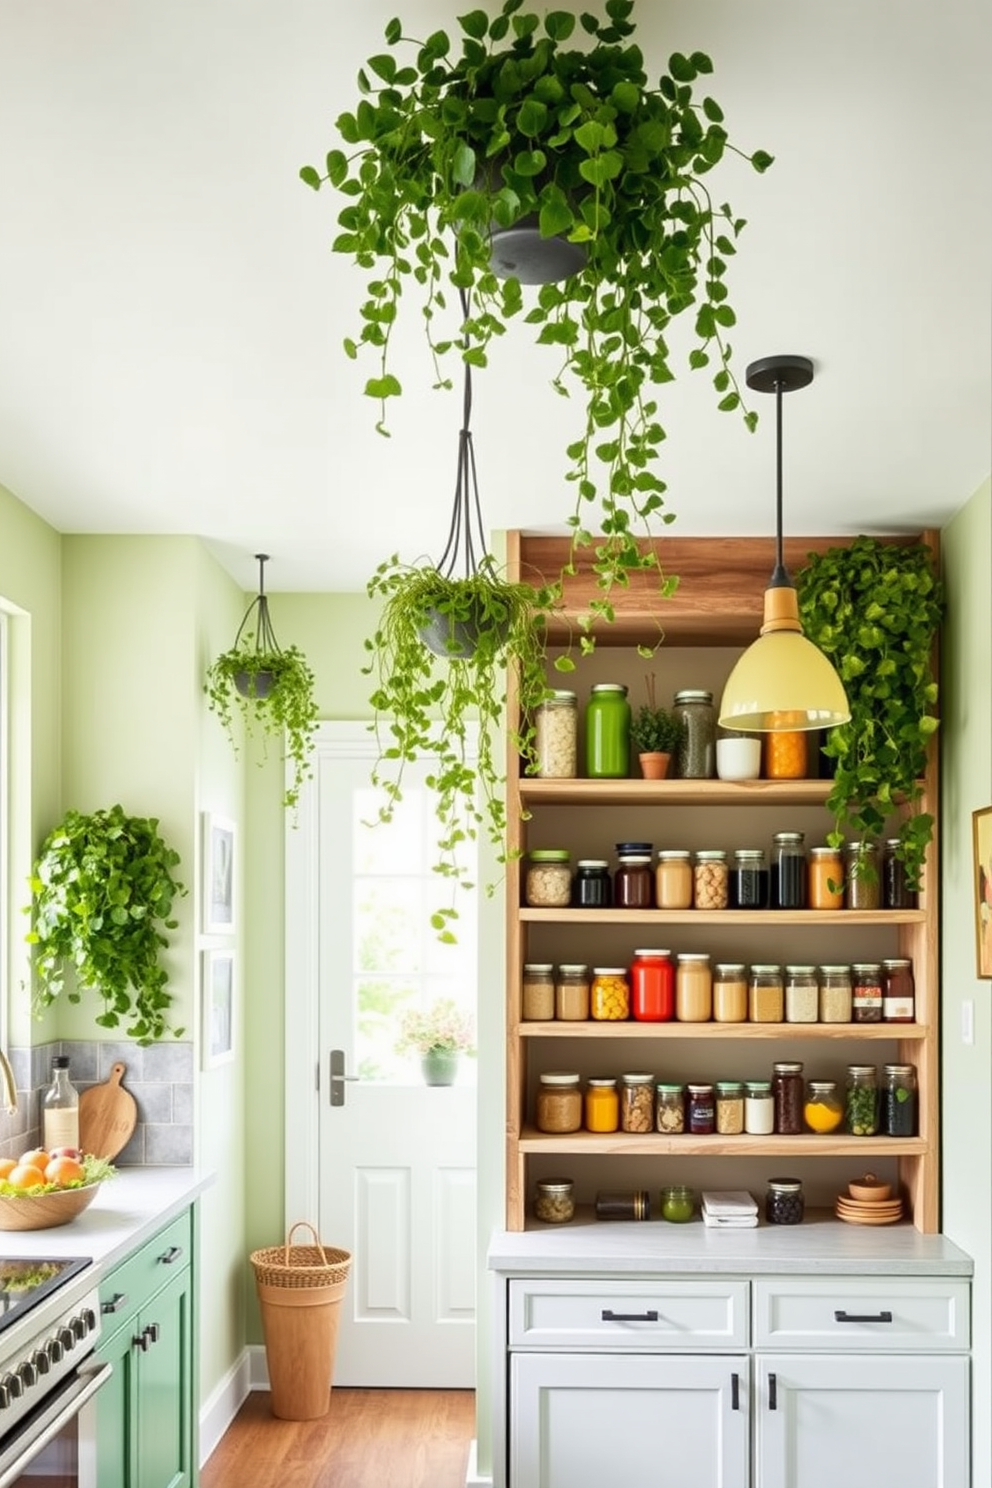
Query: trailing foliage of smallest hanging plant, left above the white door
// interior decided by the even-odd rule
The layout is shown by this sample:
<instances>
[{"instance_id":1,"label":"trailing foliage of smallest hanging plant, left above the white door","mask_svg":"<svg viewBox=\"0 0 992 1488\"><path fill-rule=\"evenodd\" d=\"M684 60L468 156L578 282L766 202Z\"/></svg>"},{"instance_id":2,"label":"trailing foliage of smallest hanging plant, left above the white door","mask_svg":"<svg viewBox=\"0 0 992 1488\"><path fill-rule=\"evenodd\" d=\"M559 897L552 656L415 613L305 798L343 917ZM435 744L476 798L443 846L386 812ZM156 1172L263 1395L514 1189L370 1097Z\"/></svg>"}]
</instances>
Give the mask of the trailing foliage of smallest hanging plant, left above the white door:
<instances>
[{"instance_id":1,"label":"trailing foliage of smallest hanging plant, left above the white door","mask_svg":"<svg viewBox=\"0 0 992 1488\"><path fill-rule=\"evenodd\" d=\"M231 650L210 664L204 692L235 753L235 711L244 720L245 735L259 734L263 745L268 745L271 737L286 741L286 757L293 760L293 778L286 787L283 805L296 806L303 781L312 775L309 756L317 729L314 673L302 650L296 646L275 652L260 650L254 644L254 634L245 631Z\"/></svg>"}]
</instances>

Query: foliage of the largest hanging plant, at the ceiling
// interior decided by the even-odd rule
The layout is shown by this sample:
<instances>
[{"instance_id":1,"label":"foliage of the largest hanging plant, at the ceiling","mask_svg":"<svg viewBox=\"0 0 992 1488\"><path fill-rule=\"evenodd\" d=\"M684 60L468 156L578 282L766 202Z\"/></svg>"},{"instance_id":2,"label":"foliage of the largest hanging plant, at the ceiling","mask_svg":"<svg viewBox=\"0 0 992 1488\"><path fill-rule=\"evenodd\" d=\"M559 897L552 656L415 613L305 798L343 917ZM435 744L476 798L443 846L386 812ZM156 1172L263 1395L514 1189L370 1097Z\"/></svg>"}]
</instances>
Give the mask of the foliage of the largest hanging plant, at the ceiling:
<instances>
[{"instance_id":1,"label":"foliage of the largest hanging plant, at the ceiling","mask_svg":"<svg viewBox=\"0 0 992 1488\"><path fill-rule=\"evenodd\" d=\"M607 0L605 21L583 13L584 49L570 45L573 13L540 16L521 3L460 16L457 45L445 31L413 40L390 21L388 51L358 71L360 100L338 119L347 150L332 149L323 170L306 165L300 177L347 198L333 251L366 271L367 287L345 351L357 359L367 348L378 360L364 390L381 405L382 433L388 399L402 394L393 329L413 286L436 385L451 387L451 354L485 366L515 317L558 348L553 385L564 396L577 388L584 405L567 448L573 555L602 534L589 629L613 619L611 589L631 571L654 568L660 592L674 588L635 536L674 519L654 472L665 439L657 388L675 376L666 336L689 317L689 366L709 369L720 409L741 409L726 275L745 223L714 201L709 182L727 152L757 171L772 158L730 143L723 109L698 88L712 71L703 52L674 54L648 82L634 0ZM528 217L586 259L525 305L519 280L494 274L489 248L494 228ZM452 287L468 292L471 310L458 335L442 335ZM754 427L756 415L745 421Z\"/></svg>"}]
</instances>

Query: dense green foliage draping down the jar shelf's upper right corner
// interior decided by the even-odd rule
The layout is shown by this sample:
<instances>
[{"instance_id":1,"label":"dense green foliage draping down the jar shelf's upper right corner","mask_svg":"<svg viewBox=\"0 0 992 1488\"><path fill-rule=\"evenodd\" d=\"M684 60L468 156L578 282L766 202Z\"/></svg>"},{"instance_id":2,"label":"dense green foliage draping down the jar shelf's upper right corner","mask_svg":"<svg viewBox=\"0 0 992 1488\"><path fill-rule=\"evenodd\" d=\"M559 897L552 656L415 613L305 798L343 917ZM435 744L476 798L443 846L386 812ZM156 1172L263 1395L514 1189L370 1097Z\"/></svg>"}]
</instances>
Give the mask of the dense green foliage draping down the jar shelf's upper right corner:
<instances>
[{"instance_id":1,"label":"dense green foliage draping down the jar shelf's upper right corner","mask_svg":"<svg viewBox=\"0 0 992 1488\"><path fill-rule=\"evenodd\" d=\"M898 856L918 887L934 820L916 809L938 719L933 650L943 594L930 548L858 537L849 548L811 554L796 574L803 629L833 661L851 722L830 732L836 760L827 808L830 836L877 836L898 806Z\"/></svg>"}]
</instances>

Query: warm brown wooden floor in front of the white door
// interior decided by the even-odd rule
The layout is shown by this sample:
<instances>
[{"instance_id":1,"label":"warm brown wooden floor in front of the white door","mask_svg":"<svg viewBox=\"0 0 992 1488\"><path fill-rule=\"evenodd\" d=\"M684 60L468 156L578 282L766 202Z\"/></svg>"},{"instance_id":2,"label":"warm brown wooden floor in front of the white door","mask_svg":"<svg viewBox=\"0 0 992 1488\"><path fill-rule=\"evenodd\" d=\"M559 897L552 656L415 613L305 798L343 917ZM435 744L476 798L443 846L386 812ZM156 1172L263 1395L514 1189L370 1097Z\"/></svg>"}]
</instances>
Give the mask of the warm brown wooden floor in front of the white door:
<instances>
[{"instance_id":1,"label":"warm brown wooden floor in front of the white door","mask_svg":"<svg viewBox=\"0 0 992 1488\"><path fill-rule=\"evenodd\" d=\"M253 1391L201 1488L464 1488L471 1390L342 1390L317 1421L278 1421Z\"/></svg>"}]
</instances>

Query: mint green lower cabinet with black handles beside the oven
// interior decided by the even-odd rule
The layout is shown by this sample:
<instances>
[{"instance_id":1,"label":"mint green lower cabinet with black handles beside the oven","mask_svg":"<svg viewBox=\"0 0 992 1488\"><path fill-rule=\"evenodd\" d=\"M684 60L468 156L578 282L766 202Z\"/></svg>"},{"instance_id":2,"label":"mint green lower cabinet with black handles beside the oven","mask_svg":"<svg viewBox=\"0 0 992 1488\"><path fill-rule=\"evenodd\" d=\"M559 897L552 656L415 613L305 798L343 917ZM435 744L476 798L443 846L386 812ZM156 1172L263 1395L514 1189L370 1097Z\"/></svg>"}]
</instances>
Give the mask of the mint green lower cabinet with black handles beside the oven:
<instances>
[{"instance_id":1,"label":"mint green lower cabinet with black handles beside the oven","mask_svg":"<svg viewBox=\"0 0 992 1488\"><path fill-rule=\"evenodd\" d=\"M164 1226L100 1287L100 1488L195 1488L193 1214Z\"/></svg>"}]
</instances>

